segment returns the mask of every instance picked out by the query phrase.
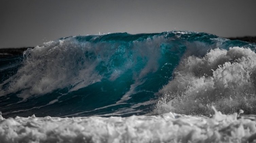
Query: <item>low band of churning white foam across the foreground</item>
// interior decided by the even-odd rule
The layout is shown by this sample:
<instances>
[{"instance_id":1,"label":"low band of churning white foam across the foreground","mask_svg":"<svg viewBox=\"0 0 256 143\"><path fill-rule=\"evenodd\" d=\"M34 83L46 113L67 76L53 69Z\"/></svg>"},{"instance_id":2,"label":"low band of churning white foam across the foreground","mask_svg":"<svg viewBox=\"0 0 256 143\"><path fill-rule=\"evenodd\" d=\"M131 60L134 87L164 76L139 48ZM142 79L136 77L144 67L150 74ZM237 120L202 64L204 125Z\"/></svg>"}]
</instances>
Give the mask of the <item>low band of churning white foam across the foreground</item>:
<instances>
[{"instance_id":1,"label":"low band of churning white foam across the foreground","mask_svg":"<svg viewBox=\"0 0 256 143\"><path fill-rule=\"evenodd\" d=\"M215 111L212 118L166 113L130 117L44 117L4 119L1 143L253 142L256 122Z\"/></svg>"}]
</instances>

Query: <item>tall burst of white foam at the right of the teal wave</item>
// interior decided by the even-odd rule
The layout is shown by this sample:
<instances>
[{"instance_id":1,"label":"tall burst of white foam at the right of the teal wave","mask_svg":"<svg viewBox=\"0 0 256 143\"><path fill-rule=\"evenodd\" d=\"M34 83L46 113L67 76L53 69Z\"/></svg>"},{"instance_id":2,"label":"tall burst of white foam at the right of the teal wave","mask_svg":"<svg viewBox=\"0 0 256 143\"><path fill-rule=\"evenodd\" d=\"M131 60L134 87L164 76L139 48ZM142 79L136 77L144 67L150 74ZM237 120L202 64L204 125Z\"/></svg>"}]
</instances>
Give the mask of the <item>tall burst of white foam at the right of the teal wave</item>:
<instances>
[{"instance_id":1,"label":"tall burst of white foam at the right of the teal wave","mask_svg":"<svg viewBox=\"0 0 256 143\"><path fill-rule=\"evenodd\" d=\"M210 114L211 106L224 113L256 113L256 54L251 49L214 49L203 57L188 56L175 78L159 93L155 113Z\"/></svg>"}]
</instances>

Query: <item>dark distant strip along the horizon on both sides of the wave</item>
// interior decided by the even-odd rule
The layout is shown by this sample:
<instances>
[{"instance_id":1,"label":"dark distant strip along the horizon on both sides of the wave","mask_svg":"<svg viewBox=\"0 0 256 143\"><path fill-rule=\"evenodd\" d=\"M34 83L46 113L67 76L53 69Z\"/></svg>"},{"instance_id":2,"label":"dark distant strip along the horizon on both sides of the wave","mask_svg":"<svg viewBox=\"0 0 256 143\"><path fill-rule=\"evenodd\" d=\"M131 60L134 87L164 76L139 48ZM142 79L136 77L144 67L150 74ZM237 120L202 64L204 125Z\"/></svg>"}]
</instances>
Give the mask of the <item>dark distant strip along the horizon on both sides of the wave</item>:
<instances>
[{"instance_id":1,"label":"dark distant strip along the horizon on both sides of the wave","mask_svg":"<svg viewBox=\"0 0 256 143\"><path fill-rule=\"evenodd\" d=\"M244 36L244 37L229 37L230 40L241 40L245 42L256 43L256 36ZM7 58L11 56L21 55L28 48L34 47L21 47L21 48L4 48L0 49L0 58Z\"/></svg>"}]
</instances>

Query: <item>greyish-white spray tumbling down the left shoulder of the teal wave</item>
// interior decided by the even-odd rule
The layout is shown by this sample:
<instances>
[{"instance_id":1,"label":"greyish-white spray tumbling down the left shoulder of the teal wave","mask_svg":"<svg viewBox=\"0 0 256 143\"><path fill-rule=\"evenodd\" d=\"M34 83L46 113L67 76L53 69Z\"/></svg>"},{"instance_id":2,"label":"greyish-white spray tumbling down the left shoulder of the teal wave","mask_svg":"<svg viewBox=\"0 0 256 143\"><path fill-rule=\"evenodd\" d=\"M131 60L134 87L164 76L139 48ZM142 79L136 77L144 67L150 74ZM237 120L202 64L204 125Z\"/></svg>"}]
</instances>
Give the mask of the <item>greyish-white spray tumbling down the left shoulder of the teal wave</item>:
<instances>
[{"instance_id":1,"label":"greyish-white spray tumbling down the left shoulder of the teal wave","mask_svg":"<svg viewBox=\"0 0 256 143\"><path fill-rule=\"evenodd\" d=\"M90 45L85 46L90 51ZM22 98L45 94L58 88L83 83L84 86L102 78L94 68L96 60L86 58L85 50L70 40L50 41L24 52L23 66L11 77L3 94L15 93Z\"/></svg>"}]
</instances>

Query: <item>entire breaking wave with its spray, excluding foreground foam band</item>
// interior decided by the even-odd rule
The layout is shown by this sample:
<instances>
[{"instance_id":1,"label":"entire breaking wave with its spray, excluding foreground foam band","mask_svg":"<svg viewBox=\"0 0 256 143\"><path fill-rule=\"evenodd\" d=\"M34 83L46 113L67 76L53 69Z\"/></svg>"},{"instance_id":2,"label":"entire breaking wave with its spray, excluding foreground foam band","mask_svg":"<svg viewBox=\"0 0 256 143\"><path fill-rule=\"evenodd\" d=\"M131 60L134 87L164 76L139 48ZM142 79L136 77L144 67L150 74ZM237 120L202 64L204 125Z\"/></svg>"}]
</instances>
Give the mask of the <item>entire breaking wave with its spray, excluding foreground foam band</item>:
<instances>
[{"instance_id":1,"label":"entire breaking wave with its spray, excluding foreground foam band","mask_svg":"<svg viewBox=\"0 0 256 143\"><path fill-rule=\"evenodd\" d=\"M0 59L4 116L255 114L254 44L197 32L71 36ZM188 108L189 107L189 108Z\"/></svg>"}]
</instances>

